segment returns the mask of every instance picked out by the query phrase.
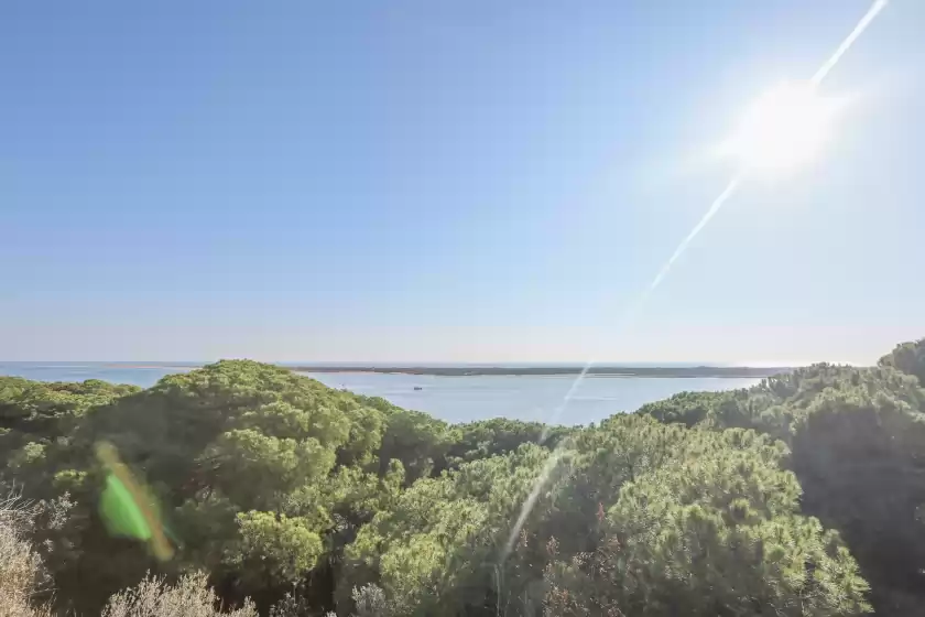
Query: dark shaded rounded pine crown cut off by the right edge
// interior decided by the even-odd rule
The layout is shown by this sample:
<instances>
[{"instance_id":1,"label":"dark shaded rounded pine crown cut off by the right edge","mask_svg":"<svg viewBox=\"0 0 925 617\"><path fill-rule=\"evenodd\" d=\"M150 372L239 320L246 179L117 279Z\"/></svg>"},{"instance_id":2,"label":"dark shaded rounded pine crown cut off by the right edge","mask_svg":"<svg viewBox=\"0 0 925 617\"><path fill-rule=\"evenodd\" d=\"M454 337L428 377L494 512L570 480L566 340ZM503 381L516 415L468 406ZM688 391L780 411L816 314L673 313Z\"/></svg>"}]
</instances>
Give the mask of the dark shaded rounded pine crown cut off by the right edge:
<instances>
[{"instance_id":1,"label":"dark shaded rounded pine crown cut off by the right edge","mask_svg":"<svg viewBox=\"0 0 925 617\"><path fill-rule=\"evenodd\" d=\"M925 599L923 459L925 414L888 392L828 391L793 440L804 508L841 531L889 615L916 614Z\"/></svg>"}]
</instances>

